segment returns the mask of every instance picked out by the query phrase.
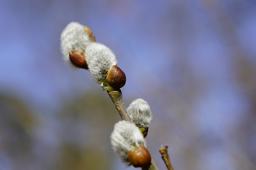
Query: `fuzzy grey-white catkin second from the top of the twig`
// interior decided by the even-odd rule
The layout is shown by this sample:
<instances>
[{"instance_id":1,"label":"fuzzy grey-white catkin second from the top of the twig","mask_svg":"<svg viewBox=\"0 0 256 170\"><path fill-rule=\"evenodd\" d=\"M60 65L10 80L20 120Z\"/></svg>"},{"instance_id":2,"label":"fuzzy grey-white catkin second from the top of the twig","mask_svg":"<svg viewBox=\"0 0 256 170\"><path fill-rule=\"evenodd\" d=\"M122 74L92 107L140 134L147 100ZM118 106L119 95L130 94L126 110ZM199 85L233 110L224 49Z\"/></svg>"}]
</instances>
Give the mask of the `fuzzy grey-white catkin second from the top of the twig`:
<instances>
[{"instance_id":1,"label":"fuzzy grey-white catkin second from the top of the twig","mask_svg":"<svg viewBox=\"0 0 256 170\"><path fill-rule=\"evenodd\" d=\"M100 43L88 45L85 49L85 55L92 79L98 84L104 81L108 69L117 64L114 53L106 45Z\"/></svg>"}]
</instances>

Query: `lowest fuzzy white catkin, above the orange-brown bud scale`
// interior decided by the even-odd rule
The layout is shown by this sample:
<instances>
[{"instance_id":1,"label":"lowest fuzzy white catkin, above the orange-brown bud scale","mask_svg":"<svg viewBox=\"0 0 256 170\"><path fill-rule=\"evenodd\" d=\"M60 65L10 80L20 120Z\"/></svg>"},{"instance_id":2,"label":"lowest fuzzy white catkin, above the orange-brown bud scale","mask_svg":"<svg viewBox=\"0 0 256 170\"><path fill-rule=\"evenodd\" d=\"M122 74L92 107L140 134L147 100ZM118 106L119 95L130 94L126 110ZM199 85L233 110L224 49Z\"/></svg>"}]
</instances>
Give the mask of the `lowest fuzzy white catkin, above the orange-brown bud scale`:
<instances>
[{"instance_id":1,"label":"lowest fuzzy white catkin, above the orange-brown bud scale","mask_svg":"<svg viewBox=\"0 0 256 170\"><path fill-rule=\"evenodd\" d=\"M126 154L130 149L139 145L146 147L146 141L138 127L124 120L114 125L110 140L114 151L118 153L123 162L128 162Z\"/></svg>"}]
</instances>

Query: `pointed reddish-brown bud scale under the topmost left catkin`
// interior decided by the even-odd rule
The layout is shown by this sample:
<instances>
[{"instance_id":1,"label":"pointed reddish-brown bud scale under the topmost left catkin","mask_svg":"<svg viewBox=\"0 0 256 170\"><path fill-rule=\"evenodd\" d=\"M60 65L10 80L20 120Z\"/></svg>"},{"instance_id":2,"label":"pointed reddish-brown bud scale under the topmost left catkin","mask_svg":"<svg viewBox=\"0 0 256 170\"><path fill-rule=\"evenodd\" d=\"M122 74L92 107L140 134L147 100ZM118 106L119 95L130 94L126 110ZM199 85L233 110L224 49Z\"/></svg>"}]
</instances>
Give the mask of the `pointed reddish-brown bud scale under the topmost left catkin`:
<instances>
[{"instance_id":1,"label":"pointed reddish-brown bud scale under the topmost left catkin","mask_svg":"<svg viewBox=\"0 0 256 170\"><path fill-rule=\"evenodd\" d=\"M84 51L82 50L71 50L69 51L69 59L72 64L76 67L84 68L88 70L88 65L85 60Z\"/></svg>"}]
</instances>

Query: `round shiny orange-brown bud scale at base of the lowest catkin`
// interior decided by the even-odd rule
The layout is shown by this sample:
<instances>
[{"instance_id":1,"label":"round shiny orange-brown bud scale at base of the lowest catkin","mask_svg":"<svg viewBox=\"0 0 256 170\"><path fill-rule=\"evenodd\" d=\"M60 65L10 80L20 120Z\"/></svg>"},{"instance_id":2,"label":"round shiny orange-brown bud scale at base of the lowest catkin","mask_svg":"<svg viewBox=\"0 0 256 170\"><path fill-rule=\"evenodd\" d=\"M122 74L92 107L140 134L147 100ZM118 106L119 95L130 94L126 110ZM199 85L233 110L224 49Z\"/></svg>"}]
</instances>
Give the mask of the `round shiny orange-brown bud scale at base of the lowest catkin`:
<instances>
[{"instance_id":1,"label":"round shiny orange-brown bud scale at base of the lowest catkin","mask_svg":"<svg viewBox=\"0 0 256 170\"><path fill-rule=\"evenodd\" d=\"M127 152L127 160L134 167L143 167L151 162L151 156L148 150L142 145L135 147Z\"/></svg>"}]
</instances>

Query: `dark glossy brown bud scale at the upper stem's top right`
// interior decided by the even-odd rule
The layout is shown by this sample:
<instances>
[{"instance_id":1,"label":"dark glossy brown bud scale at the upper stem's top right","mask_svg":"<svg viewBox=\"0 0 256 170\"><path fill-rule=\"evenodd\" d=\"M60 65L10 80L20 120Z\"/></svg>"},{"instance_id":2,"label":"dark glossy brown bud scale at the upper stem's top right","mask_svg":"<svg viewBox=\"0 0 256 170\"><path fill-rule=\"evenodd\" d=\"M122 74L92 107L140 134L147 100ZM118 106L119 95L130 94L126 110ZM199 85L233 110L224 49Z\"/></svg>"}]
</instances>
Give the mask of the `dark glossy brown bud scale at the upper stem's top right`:
<instances>
[{"instance_id":1,"label":"dark glossy brown bud scale at the upper stem's top right","mask_svg":"<svg viewBox=\"0 0 256 170\"><path fill-rule=\"evenodd\" d=\"M110 69L108 69L106 80L110 87L119 89L124 86L126 82L126 76L117 65L113 65L110 67Z\"/></svg>"}]
</instances>

